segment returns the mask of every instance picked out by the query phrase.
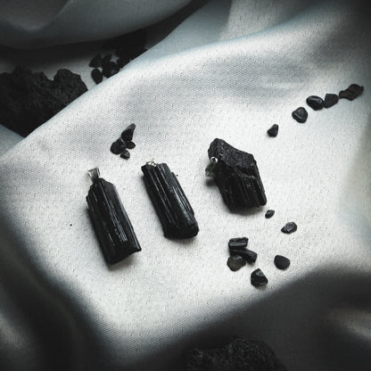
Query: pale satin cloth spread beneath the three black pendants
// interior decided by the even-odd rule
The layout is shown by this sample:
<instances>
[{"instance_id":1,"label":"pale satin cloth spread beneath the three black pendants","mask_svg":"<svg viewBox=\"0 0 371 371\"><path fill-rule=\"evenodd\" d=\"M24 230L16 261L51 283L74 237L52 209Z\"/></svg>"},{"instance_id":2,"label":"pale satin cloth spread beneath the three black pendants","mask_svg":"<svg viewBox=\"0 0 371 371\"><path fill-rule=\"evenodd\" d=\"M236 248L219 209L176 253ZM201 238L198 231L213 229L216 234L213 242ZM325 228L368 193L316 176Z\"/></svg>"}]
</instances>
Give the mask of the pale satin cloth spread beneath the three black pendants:
<instances>
[{"instance_id":1,"label":"pale satin cloth spread beneath the three black pendants","mask_svg":"<svg viewBox=\"0 0 371 371\"><path fill-rule=\"evenodd\" d=\"M369 370L370 27L361 2L211 1L4 153L0 368L180 370L185 349L243 335L289 370ZM291 117L351 83L365 86L353 102ZM123 161L109 149L131 122ZM215 137L253 153L267 207L227 210L204 177ZM140 169L153 158L194 208L192 241L162 235ZM111 268L87 214L95 166L143 249ZM280 232L288 221L293 235ZM240 235L259 257L234 273L227 241ZM276 269L276 254L291 267ZM250 284L255 268L264 289Z\"/></svg>"}]
</instances>

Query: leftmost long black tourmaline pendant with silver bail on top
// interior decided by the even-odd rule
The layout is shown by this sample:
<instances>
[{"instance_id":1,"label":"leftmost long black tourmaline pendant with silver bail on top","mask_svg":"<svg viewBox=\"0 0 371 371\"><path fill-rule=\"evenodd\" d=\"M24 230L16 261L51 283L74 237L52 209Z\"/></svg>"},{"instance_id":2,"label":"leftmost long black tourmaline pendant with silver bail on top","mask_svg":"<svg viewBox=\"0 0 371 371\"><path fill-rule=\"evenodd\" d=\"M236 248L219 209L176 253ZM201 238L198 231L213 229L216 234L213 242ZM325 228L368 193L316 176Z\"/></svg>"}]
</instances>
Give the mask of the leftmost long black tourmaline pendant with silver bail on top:
<instances>
[{"instance_id":1,"label":"leftmost long black tourmaline pendant with silver bail on top","mask_svg":"<svg viewBox=\"0 0 371 371\"><path fill-rule=\"evenodd\" d=\"M116 187L99 177L99 169L88 173L93 185L87 194L87 206L104 258L114 264L142 249Z\"/></svg>"}]
</instances>

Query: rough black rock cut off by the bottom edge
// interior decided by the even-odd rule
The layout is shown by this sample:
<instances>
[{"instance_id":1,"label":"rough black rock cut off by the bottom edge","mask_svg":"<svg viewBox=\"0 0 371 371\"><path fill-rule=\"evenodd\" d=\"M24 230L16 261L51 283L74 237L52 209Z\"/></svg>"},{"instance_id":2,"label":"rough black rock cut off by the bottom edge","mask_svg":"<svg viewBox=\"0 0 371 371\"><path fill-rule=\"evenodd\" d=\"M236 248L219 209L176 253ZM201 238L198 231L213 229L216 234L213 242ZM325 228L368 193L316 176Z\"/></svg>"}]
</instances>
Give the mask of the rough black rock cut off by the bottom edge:
<instances>
[{"instance_id":1,"label":"rough black rock cut off by the bottom edge","mask_svg":"<svg viewBox=\"0 0 371 371\"><path fill-rule=\"evenodd\" d=\"M193 349L186 356L186 371L286 371L265 342L235 338L211 350Z\"/></svg>"}]
</instances>

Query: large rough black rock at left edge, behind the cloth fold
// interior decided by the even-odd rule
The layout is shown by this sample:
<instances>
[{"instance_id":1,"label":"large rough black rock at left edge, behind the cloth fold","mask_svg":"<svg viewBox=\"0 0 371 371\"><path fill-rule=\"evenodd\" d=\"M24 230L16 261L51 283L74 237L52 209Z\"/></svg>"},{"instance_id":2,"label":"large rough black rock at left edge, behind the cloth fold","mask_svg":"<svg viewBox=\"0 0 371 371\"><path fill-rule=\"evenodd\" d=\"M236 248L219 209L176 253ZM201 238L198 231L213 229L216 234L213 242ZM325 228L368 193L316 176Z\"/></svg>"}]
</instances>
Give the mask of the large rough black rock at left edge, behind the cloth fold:
<instances>
[{"instance_id":1,"label":"large rough black rock at left edge, behind the cloth fold","mask_svg":"<svg viewBox=\"0 0 371 371\"><path fill-rule=\"evenodd\" d=\"M58 70L54 80L19 67L1 73L0 124L28 136L86 91L80 76L70 70Z\"/></svg>"}]
</instances>

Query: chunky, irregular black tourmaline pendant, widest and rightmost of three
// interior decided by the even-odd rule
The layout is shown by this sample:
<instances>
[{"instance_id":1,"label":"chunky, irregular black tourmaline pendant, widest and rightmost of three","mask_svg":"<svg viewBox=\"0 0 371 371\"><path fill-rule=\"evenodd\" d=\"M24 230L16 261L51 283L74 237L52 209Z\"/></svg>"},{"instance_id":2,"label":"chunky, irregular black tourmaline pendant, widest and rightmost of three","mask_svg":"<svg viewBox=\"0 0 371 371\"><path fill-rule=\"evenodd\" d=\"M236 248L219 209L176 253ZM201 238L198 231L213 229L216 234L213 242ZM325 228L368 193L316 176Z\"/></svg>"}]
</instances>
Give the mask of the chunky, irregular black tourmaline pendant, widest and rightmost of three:
<instances>
[{"instance_id":1,"label":"chunky, irregular black tourmaline pendant, widest and rightmost of three","mask_svg":"<svg viewBox=\"0 0 371 371\"><path fill-rule=\"evenodd\" d=\"M213 177L230 209L259 207L267 203L259 169L250 153L237 150L222 139L209 148L206 176Z\"/></svg>"}]
</instances>

